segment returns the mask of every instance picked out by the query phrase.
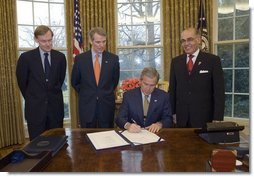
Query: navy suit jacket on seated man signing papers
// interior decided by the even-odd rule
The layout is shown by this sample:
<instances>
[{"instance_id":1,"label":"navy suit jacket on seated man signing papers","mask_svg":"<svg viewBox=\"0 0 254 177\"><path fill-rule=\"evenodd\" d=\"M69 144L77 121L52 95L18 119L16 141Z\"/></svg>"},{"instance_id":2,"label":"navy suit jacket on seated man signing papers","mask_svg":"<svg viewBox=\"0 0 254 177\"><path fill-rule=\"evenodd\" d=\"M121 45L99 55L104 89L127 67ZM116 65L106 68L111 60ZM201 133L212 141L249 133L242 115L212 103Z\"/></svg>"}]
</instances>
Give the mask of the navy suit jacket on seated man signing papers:
<instances>
[{"instance_id":1,"label":"navy suit jacket on seated man signing papers","mask_svg":"<svg viewBox=\"0 0 254 177\"><path fill-rule=\"evenodd\" d=\"M124 128L127 122L133 120L141 127L147 127L153 123L161 122L164 128L172 126L171 105L169 94L155 88L151 94L147 117L144 121L143 102L140 88L124 93L123 103L116 118L116 124Z\"/></svg>"}]
</instances>

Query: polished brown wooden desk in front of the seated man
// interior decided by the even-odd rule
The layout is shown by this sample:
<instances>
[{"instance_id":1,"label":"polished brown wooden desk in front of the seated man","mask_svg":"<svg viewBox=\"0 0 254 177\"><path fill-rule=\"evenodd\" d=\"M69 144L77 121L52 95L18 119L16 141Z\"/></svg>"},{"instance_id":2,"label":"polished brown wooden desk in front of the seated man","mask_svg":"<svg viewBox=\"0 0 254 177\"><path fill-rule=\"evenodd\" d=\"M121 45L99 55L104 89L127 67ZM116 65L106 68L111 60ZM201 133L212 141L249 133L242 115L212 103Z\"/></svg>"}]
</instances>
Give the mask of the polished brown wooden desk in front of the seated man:
<instances>
[{"instance_id":1,"label":"polished brown wooden desk in front of the seated man","mask_svg":"<svg viewBox=\"0 0 254 177\"><path fill-rule=\"evenodd\" d=\"M52 129L44 135L68 136L45 172L204 172L213 149L193 129L162 129L165 142L96 151L86 133L107 129ZM229 145L229 146L232 146Z\"/></svg>"}]
</instances>

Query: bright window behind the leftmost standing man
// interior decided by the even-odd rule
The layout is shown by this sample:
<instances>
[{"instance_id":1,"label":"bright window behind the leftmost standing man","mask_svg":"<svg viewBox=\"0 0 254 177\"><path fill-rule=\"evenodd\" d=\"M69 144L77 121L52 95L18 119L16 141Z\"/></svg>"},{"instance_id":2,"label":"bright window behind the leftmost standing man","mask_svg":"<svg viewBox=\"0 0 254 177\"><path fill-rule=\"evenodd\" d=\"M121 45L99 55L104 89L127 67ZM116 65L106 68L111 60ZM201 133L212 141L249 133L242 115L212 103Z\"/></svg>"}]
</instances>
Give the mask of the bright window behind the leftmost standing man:
<instances>
[{"instance_id":1,"label":"bright window behind the leftmost standing man","mask_svg":"<svg viewBox=\"0 0 254 177\"><path fill-rule=\"evenodd\" d=\"M34 30L48 25L54 32L53 48L67 53L64 0L17 0L19 53L37 47ZM67 72L67 71L66 71ZM65 118L69 118L68 73L63 84Z\"/></svg>"}]
</instances>

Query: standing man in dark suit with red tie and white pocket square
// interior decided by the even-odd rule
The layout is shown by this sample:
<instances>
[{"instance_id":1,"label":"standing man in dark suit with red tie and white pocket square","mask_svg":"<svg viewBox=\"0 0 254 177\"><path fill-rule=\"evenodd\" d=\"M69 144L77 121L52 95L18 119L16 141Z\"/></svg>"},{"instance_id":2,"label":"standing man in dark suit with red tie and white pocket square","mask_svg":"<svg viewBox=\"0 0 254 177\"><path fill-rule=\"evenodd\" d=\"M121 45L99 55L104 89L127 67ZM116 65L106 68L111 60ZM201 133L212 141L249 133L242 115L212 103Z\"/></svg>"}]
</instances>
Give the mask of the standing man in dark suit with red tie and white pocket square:
<instances>
[{"instance_id":1,"label":"standing man in dark suit with red tie and white pocket square","mask_svg":"<svg viewBox=\"0 0 254 177\"><path fill-rule=\"evenodd\" d=\"M224 76L218 56L199 49L195 28L181 33L185 54L173 58L170 86L173 120L177 127L204 127L224 118ZM192 60L192 61L190 61Z\"/></svg>"}]
</instances>

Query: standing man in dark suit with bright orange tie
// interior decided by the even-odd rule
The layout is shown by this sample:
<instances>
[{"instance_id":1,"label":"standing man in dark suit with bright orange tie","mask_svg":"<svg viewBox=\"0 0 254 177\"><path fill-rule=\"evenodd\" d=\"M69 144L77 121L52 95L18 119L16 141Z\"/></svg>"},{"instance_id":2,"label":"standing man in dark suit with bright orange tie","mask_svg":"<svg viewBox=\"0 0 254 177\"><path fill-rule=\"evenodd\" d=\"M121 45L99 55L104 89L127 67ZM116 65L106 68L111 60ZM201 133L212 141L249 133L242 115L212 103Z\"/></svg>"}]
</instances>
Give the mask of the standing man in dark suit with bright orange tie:
<instances>
[{"instance_id":1,"label":"standing man in dark suit with bright orange tie","mask_svg":"<svg viewBox=\"0 0 254 177\"><path fill-rule=\"evenodd\" d=\"M75 57L71 83L78 93L82 128L112 128L115 112L114 90L118 85L119 57L105 51L106 32L90 30L91 50Z\"/></svg>"}]
</instances>

